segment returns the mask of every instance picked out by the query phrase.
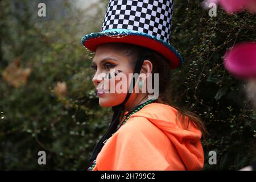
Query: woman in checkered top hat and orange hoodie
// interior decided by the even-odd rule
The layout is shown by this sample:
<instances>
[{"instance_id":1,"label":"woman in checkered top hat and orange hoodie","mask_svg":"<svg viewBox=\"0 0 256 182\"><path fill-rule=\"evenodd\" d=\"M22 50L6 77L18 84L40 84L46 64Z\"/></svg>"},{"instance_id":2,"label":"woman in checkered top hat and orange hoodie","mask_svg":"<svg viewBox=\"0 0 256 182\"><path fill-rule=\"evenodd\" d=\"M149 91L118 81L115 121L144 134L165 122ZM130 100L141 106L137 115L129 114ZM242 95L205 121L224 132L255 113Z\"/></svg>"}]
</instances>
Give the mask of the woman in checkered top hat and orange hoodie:
<instances>
[{"instance_id":1,"label":"woman in checkered top hat and orange hoodie","mask_svg":"<svg viewBox=\"0 0 256 182\"><path fill-rule=\"evenodd\" d=\"M171 15L172 0L110 0L102 31L82 38L82 44L96 52L92 81L99 104L114 111L108 131L94 147L88 170L203 168L203 123L196 115L171 106L168 100L170 71L183 62L168 43ZM118 88L119 75L129 77L131 73L145 75L141 80L135 77L123 81L126 92L110 91L109 86ZM150 73L159 79L150 79ZM154 80L152 86L158 97L148 88L141 92L150 80Z\"/></svg>"}]
</instances>

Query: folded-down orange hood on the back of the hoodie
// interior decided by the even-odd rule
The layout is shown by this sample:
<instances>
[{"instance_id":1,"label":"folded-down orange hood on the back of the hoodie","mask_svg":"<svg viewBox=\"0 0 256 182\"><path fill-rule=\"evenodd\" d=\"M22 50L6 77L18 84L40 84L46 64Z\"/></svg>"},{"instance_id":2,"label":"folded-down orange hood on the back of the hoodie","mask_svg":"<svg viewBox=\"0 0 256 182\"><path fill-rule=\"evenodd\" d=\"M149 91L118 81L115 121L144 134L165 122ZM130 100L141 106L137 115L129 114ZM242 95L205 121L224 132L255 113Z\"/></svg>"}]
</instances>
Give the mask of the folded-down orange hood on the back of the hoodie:
<instances>
[{"instance_id":1,"label":"folded-down orange hood on the back of the hoodie","mask_svg":"<svg viewBox=\"0 0 256 182\"><path fill-rule=\"evenodd\" d=\"M177 118L178 111L172 106L151 103L144 106L132 117L144 117L164 132L176 147L187 170L200 170L204 166L204 151L201 144L201 131L184 117ZM180 120L180 121L179 121Z\"/></svg>"}]
</instances>

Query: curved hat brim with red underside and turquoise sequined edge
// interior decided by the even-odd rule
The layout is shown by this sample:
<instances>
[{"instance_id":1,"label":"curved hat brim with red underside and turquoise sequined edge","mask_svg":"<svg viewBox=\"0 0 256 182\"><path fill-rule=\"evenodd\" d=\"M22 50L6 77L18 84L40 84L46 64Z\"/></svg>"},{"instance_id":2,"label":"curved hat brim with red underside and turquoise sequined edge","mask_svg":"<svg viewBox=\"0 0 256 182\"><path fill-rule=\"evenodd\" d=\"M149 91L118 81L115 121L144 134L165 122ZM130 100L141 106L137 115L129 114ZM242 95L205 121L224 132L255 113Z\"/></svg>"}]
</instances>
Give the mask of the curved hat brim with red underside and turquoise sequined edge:
<instances>
[{"instance_id":1,"label":"curved hat brim with red underside and turquoise sequined edge","mask_svg":"<svg viewBox=\"0 0 256 182\"><path fill-rule=\"evenodd\" d=\"M170 68L174 69L183 64L183 59L177 50L169 43L156 38L155 36L148 35L143 32L126 30L126 29L112 29L92 34L85 35L81 39L84 47L89 51L95 52L97 46L106 43L129 43L138 46L150 48L170 61Z\"/></svg>"}]
</instances>

